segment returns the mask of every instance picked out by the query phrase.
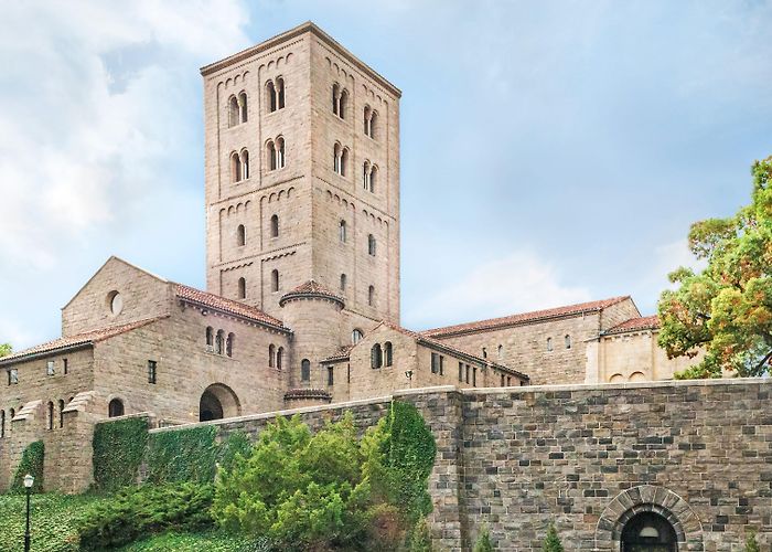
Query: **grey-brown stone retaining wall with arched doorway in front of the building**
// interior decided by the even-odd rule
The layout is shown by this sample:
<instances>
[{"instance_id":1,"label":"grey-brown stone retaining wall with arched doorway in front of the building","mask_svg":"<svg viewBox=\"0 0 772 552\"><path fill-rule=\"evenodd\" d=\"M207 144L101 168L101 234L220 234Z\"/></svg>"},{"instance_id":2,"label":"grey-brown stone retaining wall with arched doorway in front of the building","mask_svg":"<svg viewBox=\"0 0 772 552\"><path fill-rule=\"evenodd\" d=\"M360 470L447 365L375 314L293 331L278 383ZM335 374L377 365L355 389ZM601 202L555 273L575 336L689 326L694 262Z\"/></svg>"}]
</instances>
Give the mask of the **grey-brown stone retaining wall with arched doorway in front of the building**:
<instances>
[{"instance_id":1,"label":"grey-brown stone retaining wall with arched doorway in front of the building","mask_svg":"<svg viewBox=\"0 0 772 552\"><path fill-rule=\"evenodd\" d=\"M682 551L741 550L750 529L769 550L771 391L765 379L444 386L210 424L221 438L255 436L278 414L318 428L351 411L364 429L392 399L415 404L437 438L439 550L471 550L487 524L497 550L537 551L555 522L566 550L619 551L622 526L639 511L669 519Z\"/></svg>"}]
</instances>

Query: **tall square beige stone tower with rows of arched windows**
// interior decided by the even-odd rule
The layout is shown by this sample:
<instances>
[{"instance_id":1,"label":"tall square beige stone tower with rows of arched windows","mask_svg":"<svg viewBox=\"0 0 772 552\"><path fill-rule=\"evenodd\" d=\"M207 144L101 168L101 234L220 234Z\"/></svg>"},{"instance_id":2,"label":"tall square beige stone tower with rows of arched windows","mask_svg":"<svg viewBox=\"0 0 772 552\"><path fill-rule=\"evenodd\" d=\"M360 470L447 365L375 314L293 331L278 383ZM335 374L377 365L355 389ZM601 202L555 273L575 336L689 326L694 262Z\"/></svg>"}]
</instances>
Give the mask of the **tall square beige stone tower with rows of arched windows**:
<instances>
[{"instance_id":1,"label":"tall square beige stone tower with rows of arched windows","mask_svg":"<svg viewBox=\"0 0 772 552\"><path fill-rule=\"evenodd\" d=\"M207 65L207 290L281 318L314 280L399 321L399 97L313 23Z\"/></svg>"}]
</instances>

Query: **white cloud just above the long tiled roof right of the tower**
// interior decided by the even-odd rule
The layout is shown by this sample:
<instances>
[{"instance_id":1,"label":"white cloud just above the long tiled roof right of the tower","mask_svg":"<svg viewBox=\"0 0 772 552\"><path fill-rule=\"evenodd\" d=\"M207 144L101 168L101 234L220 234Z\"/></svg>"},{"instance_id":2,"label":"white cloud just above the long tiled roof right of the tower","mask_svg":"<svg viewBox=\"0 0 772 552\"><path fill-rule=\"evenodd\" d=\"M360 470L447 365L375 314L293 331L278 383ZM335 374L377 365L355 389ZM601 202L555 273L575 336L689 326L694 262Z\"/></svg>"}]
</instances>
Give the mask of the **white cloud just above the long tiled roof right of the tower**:
<instances>
[{"instance_id":1,"label":"white cloud just above the long tiled roof right of the tower","mask_svg":"<svg viewBox=\"0 0 772 552\"><path fill-rule=\"evenodd\" d=\"M417 327L507 316L590 300L581 286L561 282L557 268L528 251L478 265L406 312Z\"/></svg>"}]
</instances>

